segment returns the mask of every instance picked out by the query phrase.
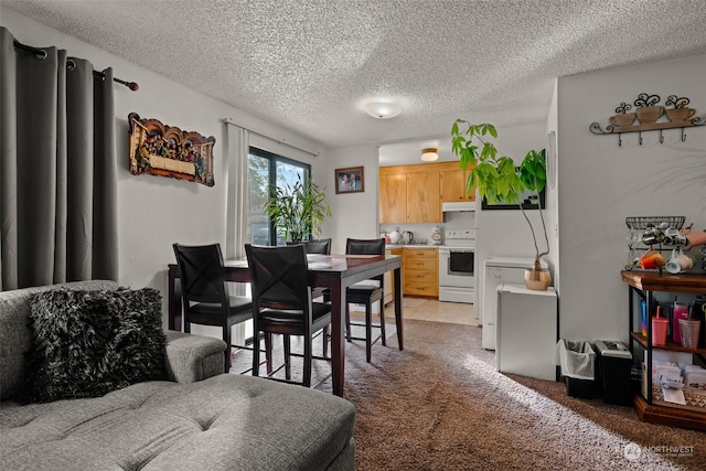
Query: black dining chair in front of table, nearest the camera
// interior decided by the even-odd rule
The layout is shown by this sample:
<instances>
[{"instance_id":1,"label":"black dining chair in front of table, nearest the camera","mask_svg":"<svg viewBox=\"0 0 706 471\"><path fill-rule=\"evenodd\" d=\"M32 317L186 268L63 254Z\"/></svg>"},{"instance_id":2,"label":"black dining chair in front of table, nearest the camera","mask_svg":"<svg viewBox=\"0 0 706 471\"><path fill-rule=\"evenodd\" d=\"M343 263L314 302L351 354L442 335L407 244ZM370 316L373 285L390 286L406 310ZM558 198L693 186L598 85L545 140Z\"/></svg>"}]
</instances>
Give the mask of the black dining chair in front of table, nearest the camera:
<instances>
[{"instance_id":1,"label":"black dining chair in front of table, nearest the camera","mask_svg":"<svg viewBox=\"0 0 706 471\"><path fill-rule=\"evenodd\" d=\"M306 247L303 245L267 247L246 244L245 253L253 291L253 330L256 336L260 332L265 334L268 377L310 387L311 366L314 358L313 336L323 330L325 345L331 325L331 304L312 301ZM272 334L281 334L284 338L285 379L271 376L274 373ZM303 336L301 382L291 381L291 335ZM259 349L255 349L253 353L253 375L259 376Z\"/></svg>"}]
</instances>

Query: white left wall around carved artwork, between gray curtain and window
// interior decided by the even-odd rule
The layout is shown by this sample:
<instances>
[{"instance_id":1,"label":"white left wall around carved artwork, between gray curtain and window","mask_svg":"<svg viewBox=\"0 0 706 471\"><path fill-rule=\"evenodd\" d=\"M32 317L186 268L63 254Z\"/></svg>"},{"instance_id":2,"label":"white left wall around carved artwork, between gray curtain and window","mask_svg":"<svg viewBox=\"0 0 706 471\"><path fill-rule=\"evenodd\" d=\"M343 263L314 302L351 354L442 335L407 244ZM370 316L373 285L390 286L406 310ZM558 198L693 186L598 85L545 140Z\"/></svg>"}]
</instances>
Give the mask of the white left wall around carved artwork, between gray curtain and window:
<instances>
[{"instance_id":1,"label":"white left wall around carved artwork, between gray curtain and window","mask_svg":"<svg viewBox=\"0 0 706 471\"><path fill-rule=\"evenodd\" d=\"M137 93L115 85L120 228L118 281L125 286L159 289L165 303L167 266L174 263L172 243L218 242L225 245L227 130L224 119L246 119L247 115L11 10L0 9L0 24L24 44L56 45L67 50L69 55L87 58L96 69L113 67L116 77L139 84ZM142 118L157 118L182 130L214 136L215 185L207 188L182 180L129 173L127 117L132 111ZM256 121L248 119L248 122ZM308 148L320 149L318 143L296 137L288 130L267 124L261 127L267 132L277 133L277 137L285 136ZM287 152L288 148L280 144L277 150ZM327 180L325 151L317 159L301 158L301 152L297 157L312 164L317 182L319 179ZM376 184L373 184L372 190L375 191L375 188Z\"/></svg>"}]
</instances>

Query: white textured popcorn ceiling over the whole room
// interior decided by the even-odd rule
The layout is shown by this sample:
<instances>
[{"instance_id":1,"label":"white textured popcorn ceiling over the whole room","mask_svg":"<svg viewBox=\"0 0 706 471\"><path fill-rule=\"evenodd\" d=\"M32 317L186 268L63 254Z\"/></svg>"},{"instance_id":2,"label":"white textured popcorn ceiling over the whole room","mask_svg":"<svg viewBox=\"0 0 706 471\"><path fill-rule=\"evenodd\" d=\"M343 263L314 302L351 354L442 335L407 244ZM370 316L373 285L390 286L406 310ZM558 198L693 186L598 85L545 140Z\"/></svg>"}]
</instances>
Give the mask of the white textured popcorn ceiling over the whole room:
<instances>
[{"instance_id":1,"label":"white textured popcorn ceiling over the whole room","mask_svg":"<svg viewBox=\"0 0 706 471\"><path fill-rule=\"evenodd\" d=\"M706 53L704 0L0 3L328 147L544 121L554 77Z\"/></svg>"}]
</instances>

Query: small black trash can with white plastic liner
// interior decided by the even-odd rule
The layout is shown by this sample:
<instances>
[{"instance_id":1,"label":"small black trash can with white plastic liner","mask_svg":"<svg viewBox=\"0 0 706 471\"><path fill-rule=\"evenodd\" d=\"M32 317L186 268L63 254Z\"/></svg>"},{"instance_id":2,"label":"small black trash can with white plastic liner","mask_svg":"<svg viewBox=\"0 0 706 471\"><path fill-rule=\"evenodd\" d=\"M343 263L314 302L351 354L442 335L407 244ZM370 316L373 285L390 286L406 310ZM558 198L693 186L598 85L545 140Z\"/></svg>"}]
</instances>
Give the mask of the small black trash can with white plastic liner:
<instances>
[{"instance_id":1,"label":"small black trash can with white plastic liner","mask_svg":"<svg viewBox=\"0 0 706 471\"><path fill-rule=\"evenodd\" d=\"M558 362L566 384L566 394L592 399L596 393L596 353L587 341L559 340Z\"/></svg>"}]
</instances>

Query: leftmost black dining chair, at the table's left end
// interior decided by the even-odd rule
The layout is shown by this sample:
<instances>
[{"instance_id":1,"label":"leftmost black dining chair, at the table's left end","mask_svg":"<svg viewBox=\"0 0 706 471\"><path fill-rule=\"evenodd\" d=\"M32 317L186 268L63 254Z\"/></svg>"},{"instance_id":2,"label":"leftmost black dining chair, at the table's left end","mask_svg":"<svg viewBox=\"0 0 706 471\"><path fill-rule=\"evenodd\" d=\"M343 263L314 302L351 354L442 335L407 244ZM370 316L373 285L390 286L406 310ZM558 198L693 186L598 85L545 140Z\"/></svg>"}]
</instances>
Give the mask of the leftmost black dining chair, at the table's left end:
<instances>
[{"instance_id":1,"label":"leftmost black dining chair, at the table's left end","mask_svg":"<svg viewBox=\"0 0 706 471\"><path fill-rule=\"evenodd\" d=\"M221 327L223 341L228 345L225 358L225 372L228 373L231 349L250 350L245 345L233 345L231 331L233 325L253 319L252 299L228 293L220 244L172 246L181 270L184 332L191 332L192 323Z\"/></svg>"}]
</instances>

